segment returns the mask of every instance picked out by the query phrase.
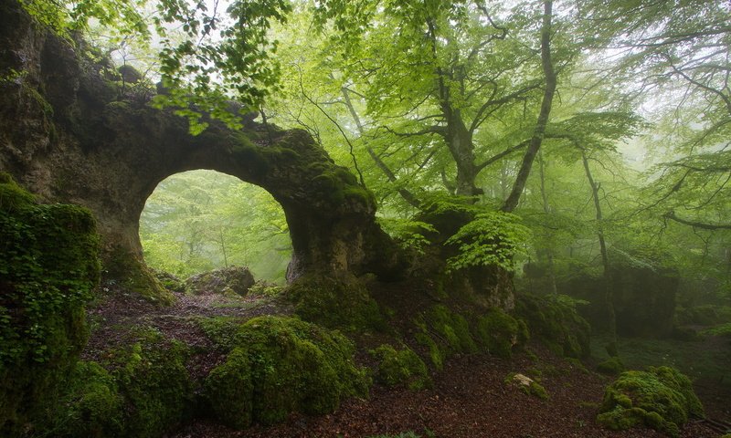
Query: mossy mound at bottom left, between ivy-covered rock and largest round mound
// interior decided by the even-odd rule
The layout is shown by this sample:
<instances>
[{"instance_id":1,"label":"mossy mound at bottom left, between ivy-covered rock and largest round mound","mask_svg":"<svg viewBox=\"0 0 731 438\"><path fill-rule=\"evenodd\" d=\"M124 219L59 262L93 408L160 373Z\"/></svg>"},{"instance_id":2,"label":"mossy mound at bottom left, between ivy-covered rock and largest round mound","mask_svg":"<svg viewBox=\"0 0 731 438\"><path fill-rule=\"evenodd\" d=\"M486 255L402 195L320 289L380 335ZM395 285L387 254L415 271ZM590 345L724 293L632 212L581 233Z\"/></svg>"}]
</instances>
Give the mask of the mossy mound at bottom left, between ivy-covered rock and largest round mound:
<instances>
[{"instance_id":1,"label":"mossy mound at bottom left, between ivy-covered rock and largest round mound","mask_svg":"<svg viewBox=\"0 0 731 438\"><path fill-rule=\"evenodd\" d=\"M38 432L156 438L183 422L194 402L188 349L151 328L138 329L130 340L107 351L102 364L79 362Z\"/></svg>"}]
</instances>

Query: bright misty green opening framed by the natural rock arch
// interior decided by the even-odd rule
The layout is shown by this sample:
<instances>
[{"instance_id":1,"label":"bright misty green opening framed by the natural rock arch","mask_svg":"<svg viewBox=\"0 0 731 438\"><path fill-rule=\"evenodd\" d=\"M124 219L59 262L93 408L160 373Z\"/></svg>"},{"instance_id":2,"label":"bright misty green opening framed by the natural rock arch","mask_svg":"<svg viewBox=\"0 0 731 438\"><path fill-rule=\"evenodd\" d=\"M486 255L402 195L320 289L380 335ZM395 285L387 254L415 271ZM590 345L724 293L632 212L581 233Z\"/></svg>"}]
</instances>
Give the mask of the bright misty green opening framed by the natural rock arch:
<instances>
[{"instance_id":1,"label":"bright misty green opening framed by the natural rock arch","mask_svg":"<svg viewBox=\"0 0 731 438\"><path fill-rule=\"evenodd\" d=\"M283 284L291 260L289 227L261 187L225 173L175 173L157 184L140 215L148 266L180 278L247 266L256 279Z\"/></svg>"}]
</instances>

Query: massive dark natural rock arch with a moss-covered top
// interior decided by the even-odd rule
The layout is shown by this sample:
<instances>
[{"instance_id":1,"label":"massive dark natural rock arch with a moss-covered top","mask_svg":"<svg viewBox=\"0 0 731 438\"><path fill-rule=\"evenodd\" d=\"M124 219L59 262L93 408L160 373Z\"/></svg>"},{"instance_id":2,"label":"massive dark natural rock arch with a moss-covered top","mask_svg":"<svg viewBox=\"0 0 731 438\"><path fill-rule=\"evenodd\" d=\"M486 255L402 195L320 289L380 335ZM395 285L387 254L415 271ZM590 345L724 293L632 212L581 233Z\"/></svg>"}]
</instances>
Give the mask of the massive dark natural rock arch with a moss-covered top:
<instances>
[{"instance_id":1,"label":"massive dark natural rock arch with a moss-covered top","mask_svg":"<svg viewBox=\"0 0 731 438\"><path fill-rule=\"evenodd\" d=\"M0 170L45 202L88 207L107 275L143 266L138 227L147 197L166 177L194 169L236 176L281 203L291 278L394 266L373 195L306 132L248 121L244 130L211 122L189 135L185 120L148 105L152 90L125 88L111 66L87 60L83 42L49 35L15 1L0 3L0 17ZM138 282L151 278L137 269Z\"/></svg>"}]
</instances>

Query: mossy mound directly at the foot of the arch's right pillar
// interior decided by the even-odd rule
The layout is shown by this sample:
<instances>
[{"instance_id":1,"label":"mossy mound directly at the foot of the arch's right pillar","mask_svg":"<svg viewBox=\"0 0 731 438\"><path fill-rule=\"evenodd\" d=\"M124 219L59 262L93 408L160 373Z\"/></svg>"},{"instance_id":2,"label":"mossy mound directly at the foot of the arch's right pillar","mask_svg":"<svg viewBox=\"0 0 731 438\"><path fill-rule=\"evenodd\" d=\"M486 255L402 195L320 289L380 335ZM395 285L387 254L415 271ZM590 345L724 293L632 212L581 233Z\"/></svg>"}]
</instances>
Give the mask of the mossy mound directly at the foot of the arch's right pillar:
<instances>
[{"instance_id":1,"label":"mossy mound directly at the foot of the arch's right pillar","mask_svg":"<svg viewBox=\"0 0 731 438\"><path fill-rule=\"evenodd\" d=\"M301 276L285 294L295 303L295 313L327 328L361 333L386 328L376 300L357 279Z\"/></svg>"}]
</instances>

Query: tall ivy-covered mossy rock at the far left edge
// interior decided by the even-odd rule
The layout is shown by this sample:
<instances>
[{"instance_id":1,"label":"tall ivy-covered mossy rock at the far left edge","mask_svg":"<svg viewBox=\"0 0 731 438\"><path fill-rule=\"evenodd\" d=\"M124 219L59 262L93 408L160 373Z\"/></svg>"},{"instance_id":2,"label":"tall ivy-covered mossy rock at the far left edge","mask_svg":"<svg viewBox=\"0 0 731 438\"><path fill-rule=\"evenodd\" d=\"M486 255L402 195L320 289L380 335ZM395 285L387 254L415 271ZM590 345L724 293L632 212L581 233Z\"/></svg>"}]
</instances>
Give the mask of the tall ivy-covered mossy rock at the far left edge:
<instances>
[{"instance_id":1,"label":"tall ivy-covered mossy rock at the far left edge","mask_svg":"<svg viewBox=\"0 0 731 438\"><path fill-rule=\"evenodd\" d=\"M39 205L0 173L0 434L15 436L73 368L99 282L89 211Z\"/></svg>"}]
</instances>

